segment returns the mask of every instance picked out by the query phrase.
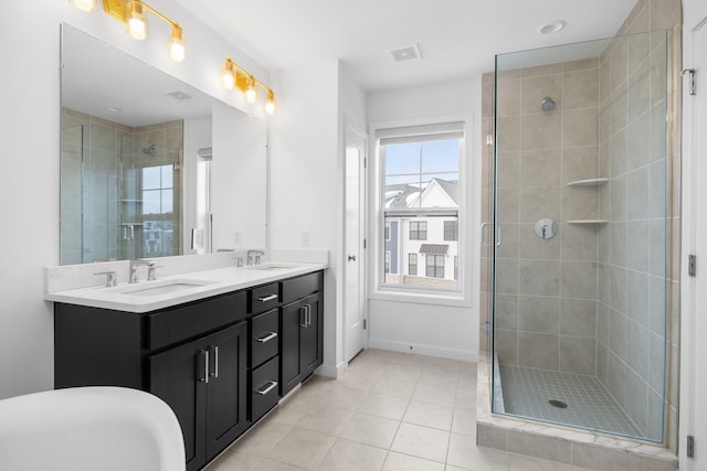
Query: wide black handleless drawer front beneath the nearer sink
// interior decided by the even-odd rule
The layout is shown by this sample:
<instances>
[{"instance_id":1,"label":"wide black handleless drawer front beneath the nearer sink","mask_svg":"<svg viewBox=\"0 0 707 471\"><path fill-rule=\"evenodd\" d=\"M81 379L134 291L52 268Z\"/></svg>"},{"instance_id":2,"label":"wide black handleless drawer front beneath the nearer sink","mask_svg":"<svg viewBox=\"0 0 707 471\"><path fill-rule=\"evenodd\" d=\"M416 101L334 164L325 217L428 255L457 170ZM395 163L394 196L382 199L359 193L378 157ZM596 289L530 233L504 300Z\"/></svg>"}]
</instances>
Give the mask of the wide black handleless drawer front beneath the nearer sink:
<instances>
[{"instance_id":1,"label":"wide black handleless drawer front beneath the nearer sink","mask_svg":"<svg viewBox=\"0 0 707 471\"><path fill-rule=\"evenodd\" d=\"M245 291L239 291L149 314L147 347L160 349L243 320L245 308Z\"/></svg>"}]
</instances>

